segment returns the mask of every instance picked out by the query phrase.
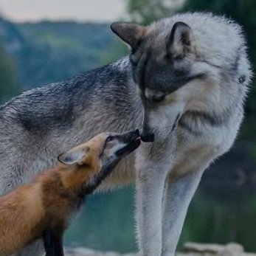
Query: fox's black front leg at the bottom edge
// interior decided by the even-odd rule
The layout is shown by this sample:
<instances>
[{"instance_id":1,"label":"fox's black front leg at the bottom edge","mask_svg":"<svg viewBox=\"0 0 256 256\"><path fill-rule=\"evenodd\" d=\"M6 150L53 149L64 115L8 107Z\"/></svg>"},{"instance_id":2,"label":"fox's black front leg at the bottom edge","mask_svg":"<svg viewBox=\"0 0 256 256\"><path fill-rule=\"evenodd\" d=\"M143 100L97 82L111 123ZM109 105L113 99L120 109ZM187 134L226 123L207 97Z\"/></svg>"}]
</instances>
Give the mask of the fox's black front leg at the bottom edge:
<instances>
[{"instance_id":1,"label":"fox's black front leg at the bottom edge","mask_svg":"<svg viewBox=\"0 0 256 256\"><path fill-rule=\"evenodd\" d=\"M64 256L63 253L63 234L52 229L43 232L44 249L46 256Z\"/></svg>"}]
</instances>

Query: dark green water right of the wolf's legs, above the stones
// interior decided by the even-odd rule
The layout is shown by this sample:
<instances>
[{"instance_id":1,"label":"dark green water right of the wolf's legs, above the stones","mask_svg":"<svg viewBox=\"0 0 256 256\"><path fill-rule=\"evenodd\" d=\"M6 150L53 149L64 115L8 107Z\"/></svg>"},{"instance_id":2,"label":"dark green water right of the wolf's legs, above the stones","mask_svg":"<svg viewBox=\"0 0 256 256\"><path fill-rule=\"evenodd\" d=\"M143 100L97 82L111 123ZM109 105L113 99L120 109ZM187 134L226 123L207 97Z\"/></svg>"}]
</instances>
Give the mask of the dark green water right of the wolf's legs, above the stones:
<instances>
[{"instance_id":1,"label":"dark green water right of the wolf's legs, above the stones","mask_svg":"<svg viewBox=\"0 0 256 256\"><path fill-rule=\"evenodd\" d=\"M241 188L241 190L243 190ZM209 195L196 194L188 210L180 244L186 241L199 243L241 243L246 251L255 252L255 196L237 201L212 201Z\"/></svg>"}]
</instances>

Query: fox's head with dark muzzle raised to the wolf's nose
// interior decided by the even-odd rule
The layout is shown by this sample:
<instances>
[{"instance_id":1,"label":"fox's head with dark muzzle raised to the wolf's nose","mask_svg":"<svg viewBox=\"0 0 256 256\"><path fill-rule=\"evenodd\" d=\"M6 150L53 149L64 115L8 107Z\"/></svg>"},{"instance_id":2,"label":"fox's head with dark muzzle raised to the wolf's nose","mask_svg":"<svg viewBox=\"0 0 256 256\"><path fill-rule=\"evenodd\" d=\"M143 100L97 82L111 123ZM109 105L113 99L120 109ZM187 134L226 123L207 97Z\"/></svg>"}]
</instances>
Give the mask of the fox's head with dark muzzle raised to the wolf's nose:
<instances>
[{"instance_id":1,"label":"fox's head with dark muzzle raised to the wolf's nose","mask_svg":"<svg viewBox=\"0 0 256 256\"><path fill-rule=\"evenodd\" d=\"M67 165L63 176L66 173L69 177L66 179L68 187L77 187L80 193L91 193L117 163L139 145L139 130L125 134L103 133L60 154L59 162Z\"/></svg>"}]
</instances>

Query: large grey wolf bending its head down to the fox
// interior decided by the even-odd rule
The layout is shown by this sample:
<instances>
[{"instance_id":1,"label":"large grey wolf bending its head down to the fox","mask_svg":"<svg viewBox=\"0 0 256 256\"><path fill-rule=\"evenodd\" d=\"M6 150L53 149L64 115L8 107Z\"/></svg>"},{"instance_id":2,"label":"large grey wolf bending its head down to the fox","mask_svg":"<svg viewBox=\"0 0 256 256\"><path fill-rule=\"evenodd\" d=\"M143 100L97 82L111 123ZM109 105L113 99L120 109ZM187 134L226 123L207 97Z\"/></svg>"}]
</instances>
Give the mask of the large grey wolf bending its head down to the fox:
<instances>
[{"instance_id":1,"label":"large grey wolf bending its head down to the fox","mask_svg":"<svg viewBox=\"0 0 256 256\"><path fill-rule=\"evenodd\" d=\"M0 193L102 131L141 128L148 143L99 190L135 182L140 254L173 256L204 170L229 150L243 120L252 77L246 41L238 24L210 13L111 30L130 55L1 106ZM37 246L23 253L40 254Z\"/></svg>"}]
</instances>

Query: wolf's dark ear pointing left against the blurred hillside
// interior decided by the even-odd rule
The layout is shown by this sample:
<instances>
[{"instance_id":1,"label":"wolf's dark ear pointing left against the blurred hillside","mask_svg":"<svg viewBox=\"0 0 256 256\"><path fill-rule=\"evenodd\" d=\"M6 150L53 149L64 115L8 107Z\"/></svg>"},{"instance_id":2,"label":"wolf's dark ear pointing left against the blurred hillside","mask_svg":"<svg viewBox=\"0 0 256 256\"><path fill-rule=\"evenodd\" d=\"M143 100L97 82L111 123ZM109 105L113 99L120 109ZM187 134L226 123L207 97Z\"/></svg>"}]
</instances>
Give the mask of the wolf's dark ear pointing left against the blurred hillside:
<instances>
[{"instance_id":1,"label":"wolf's dark ear pointing left against the blurred hillside","mask_svg":"<svg viewBox=\"0 0 256 256\"><path fill-rule=\"evenodd\" d=\"M122 41L129 44L135 50L139 40L144 35L146 28L134 23L114 22L110 26L111 30L118 35Z\"/></svg>"}]
</instances>

